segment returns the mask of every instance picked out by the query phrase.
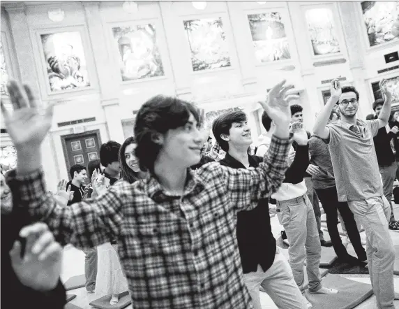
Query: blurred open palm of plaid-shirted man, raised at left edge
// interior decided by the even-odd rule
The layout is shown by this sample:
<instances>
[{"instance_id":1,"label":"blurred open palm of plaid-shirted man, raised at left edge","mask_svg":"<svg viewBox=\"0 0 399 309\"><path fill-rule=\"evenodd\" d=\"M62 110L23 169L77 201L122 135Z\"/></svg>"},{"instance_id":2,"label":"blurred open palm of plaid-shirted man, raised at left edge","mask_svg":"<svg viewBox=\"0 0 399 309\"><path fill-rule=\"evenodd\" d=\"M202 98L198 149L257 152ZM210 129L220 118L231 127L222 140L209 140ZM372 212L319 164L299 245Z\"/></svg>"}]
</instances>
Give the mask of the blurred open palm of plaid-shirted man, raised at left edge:
<instances>
[{"instance_id":1,"label":"blurred open palm of plaid-shirted man, raised at left edge","mask_svg":"<svg viewBox=\"0 0 399 309\"><path fill-rule=\"evenodd\" d=\"M52 124L53 106L37 105L29 86L24 89L15 81L8 85L13 111L1 103L4 124L16 148L40 147Z\"/></svg>"}]
</instances>

